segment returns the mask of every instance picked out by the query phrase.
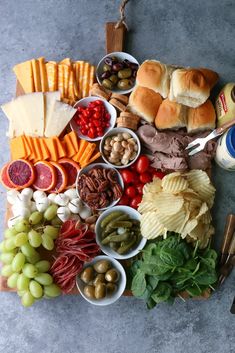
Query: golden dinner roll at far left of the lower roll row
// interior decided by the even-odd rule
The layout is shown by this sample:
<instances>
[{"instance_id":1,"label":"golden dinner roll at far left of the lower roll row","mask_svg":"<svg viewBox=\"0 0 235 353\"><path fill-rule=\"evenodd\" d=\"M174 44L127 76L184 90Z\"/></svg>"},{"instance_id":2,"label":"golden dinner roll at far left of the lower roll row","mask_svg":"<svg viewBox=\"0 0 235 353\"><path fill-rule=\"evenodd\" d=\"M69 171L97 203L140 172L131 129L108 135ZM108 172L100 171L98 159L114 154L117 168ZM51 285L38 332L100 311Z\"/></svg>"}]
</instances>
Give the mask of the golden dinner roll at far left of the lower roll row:
<instances>
[{"instance_id":1,"label":"golden dinner roll at far left of the lower roll row","mask_svg":"<svg viewBox=\"0 0 235 353\"><path fill-rule=\"evenodd\" d=\"M162 97L152 89L137 86L129 97L128 110L153 123Z\"/></svg>"}]
</instances>

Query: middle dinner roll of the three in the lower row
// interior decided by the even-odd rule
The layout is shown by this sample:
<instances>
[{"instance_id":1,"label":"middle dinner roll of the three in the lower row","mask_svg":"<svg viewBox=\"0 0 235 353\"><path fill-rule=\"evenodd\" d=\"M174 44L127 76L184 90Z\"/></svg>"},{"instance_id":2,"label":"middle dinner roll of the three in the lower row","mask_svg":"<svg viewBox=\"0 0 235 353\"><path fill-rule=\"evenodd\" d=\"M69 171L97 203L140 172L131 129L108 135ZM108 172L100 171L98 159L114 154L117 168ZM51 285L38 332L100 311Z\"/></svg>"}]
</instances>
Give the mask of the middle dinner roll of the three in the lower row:
<instances>
[{"instance_id":1,"label":"middle dinner roll of the three in the lower row","mask_svg":"<svg viewBox=\"0 0 235 353\"><path fill-rule=\"evenodd\" d=\"M187 107L165 99L158 109L155 126L159 130L177 130L187 126Z\"/></svg>"}]
</instances>

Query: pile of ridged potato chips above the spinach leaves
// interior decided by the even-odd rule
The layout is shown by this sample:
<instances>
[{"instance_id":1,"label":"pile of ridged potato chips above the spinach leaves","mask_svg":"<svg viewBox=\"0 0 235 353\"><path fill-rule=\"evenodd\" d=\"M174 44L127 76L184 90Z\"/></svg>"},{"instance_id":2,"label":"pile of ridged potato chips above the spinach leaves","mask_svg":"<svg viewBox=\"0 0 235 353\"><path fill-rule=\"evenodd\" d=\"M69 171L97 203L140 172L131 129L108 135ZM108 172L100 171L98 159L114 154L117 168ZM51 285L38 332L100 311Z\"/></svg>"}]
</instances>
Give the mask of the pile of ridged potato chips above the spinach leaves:
<instances>
[{"instance_id":1,"label":"pile of ridged potato chips above the spinach leaves","mask_svg":"<svg viewBox=\"0 0 235 353\"><path fill-rule=\"evenodd\" d=\"M214 197L215 188L202 170L174 172L162 180L154 178L144 186L138 208L143 237L166 237L171 231L189 242L199 240L199 246L205 247L214 233L210 213Z\"/></svg>"}]
</instances>

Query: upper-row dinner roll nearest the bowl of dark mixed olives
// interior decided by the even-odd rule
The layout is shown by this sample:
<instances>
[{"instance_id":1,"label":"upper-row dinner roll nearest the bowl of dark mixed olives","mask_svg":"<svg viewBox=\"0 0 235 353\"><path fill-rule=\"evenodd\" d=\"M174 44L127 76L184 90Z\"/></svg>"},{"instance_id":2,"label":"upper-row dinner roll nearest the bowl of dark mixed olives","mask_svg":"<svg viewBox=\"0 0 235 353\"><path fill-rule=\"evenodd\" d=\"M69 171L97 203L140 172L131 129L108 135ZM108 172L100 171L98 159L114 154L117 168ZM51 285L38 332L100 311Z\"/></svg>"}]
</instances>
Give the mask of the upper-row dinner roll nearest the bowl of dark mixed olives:
<instances>
[{"instance_id":1,"label":"upper-row dinner roll nearest the bowl of dark mixed olives","mask_svg":"<svg viewBox=\"0 0 235 353\"><path fill-rule=\"evenodd\" d=\"M170 89L172 71L172 66L168 67L157 60L146 60L137 71L136 83L139 86L150 88L166 98Z\"/></svg>"}]
</instances>

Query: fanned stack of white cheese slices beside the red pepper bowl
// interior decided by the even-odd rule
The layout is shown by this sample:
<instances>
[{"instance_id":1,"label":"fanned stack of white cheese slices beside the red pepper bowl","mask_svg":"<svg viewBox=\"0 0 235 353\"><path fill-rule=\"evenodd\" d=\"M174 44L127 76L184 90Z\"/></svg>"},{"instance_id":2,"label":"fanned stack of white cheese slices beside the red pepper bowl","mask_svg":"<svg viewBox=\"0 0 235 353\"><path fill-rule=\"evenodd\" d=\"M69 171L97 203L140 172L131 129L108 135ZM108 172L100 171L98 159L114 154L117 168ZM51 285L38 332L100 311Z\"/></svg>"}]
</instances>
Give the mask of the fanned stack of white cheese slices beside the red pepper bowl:
<instances>
[{"instance_id":1,"label":"fanned stack of white cheese slices beside the red pepper bowl","mask_svg":"<svg viewBox=\"0 0 235 353\"><path fill-rule=\"evenodd\" d=\"M60 102L60 92L35 92L19 96L1 106L9 119L10 138L28 135L59 136L76 109Z\"/></svg>"}]
</instances>

